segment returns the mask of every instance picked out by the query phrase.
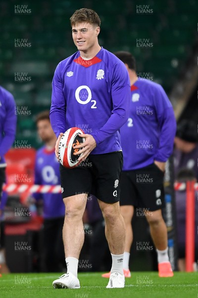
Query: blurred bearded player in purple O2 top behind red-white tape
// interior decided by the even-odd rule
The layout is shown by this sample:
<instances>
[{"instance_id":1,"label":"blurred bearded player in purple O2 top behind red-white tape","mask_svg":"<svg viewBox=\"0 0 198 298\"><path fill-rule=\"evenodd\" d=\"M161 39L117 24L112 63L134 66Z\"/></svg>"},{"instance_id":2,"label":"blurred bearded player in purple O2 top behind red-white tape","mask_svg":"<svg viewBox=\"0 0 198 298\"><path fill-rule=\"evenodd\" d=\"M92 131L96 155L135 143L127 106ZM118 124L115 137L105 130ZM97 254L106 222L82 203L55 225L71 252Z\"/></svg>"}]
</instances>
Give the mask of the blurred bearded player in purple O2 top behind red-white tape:
<instances>
[{"instance_id":1,"label":"blurred bearded player in purple O2 top behind red-white tape","mask_svg":"<svg viewBox=\"0 0 198 298\"><path fill-rule=\"evenodd\" d=\"M49 121L49 111L37 115L37 130L45 145L37 151L35 161L35 184L60 185L59 163L54 153L56 136ZM34 194L34 198L43 203L44 248L46 270L58 272L63 269L62 226L65 208L61 194ZM53 241L51 241L53 235Z\"/></svg>"}]
</instances>

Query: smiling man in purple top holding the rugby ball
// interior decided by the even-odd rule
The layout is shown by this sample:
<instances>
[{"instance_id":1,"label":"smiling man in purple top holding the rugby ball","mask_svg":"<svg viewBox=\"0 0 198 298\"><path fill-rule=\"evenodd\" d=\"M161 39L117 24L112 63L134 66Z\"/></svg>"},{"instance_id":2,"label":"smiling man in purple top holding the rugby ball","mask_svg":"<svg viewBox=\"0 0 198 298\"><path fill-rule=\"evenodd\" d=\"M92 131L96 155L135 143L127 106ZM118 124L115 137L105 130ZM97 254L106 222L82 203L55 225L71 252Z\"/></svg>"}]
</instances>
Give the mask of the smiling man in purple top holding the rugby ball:
<instances>
[{"instance_id":1,"label":"smiling man in purple top holding the rugby ball","mask_svg":"<svg viewBox=\"0 0 198 298\"><path fill-rule=\"evenodd\" d=\"M84 242L82 216L94 185L105 220L105 235L112 255L107 288L123 288L125 225L120 214L122 151L120 127L128 119L130 82L124 64L98 43L100 19L92 9L76 10L70 18L78 52L61 61L52 81L51 126L58 137L71 127L86 128L82 148L86 166L67 169L60 165L65 222L63 241L67 274L53 282L54 288L80 288L78 258ZM78 153L78 152L76 152ZM78 155L74 153L75 155ZM91 153L91 154L90 154Z\"/></svg>"}]
</instances>

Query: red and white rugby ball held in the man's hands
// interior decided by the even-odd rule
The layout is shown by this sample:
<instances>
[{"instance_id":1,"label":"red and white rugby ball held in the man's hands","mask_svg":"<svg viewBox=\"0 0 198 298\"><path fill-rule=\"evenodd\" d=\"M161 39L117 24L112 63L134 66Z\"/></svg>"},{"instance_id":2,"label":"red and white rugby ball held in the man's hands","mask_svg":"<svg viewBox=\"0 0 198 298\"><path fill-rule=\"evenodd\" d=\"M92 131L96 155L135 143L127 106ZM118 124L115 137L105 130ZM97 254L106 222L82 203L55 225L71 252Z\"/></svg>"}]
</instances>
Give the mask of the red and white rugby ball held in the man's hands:
<instances>
[{"instance_id":1,"label":"red and white rugby ball held in the man's hands","mask_svg":"<svg viewBox=\"0 0 198 298\"><path fill-rule=\"evenodd\" d=\"M58 156L60 163L67 167L76 167L80 162L78 158L82 155L80 154L80 149L75 149L75 145L80 145L85 142L85 138L79 137L79 134L84 134L84 131L78 127L69 128L61 137L58 145ZM78 152L79 155L74 155L74 152Z\"/></svg>"}]
</instances>

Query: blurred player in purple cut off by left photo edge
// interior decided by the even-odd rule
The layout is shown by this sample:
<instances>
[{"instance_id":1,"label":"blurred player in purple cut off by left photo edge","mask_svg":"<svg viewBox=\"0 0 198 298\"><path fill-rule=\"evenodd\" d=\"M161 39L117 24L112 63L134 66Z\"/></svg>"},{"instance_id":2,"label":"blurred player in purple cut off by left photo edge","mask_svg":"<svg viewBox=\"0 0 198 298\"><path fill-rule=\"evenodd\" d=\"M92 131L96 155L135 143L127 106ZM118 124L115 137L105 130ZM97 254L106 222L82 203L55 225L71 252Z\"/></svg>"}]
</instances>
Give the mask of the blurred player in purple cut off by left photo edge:
<instances>
[{"instance_id":1,"label":"blurred player in purple cut off by left photo edge","mask_svg":"<svg viewBox=\"0 0 198 298\"><path fill-rule=\"evenodd\" d=\"M14 97L10 92L0 86L0 264L6 267L4 257L4 225L2 212L6 204L6 195L2 195L2 185L5 182L6 162L4 155L12 146L16 135L16 110Z\"/></svg>"}]
</instances>

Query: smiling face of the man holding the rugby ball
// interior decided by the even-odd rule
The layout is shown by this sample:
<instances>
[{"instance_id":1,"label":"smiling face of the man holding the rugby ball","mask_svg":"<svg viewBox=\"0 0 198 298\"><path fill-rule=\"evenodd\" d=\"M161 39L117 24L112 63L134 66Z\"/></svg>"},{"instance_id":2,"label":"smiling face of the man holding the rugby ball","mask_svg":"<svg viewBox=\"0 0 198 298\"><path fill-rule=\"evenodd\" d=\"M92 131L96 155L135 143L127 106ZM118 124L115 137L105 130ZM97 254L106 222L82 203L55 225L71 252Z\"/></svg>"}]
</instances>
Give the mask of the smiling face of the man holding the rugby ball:
<instances>
[{"instance_id":1,"label":"smiling face of the man holding the rugby ball","mask_svg":"<svg viewBox=\"0 0 198 298\"><path fill-rule=\"evenodd\" d=\"M72 37L79 51L87 52L98 41L99 27L90 23L76 23L72 26Z\"/></svg>"}]
</instances>

